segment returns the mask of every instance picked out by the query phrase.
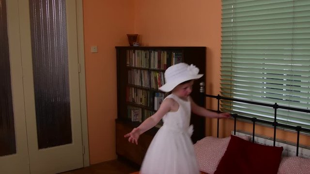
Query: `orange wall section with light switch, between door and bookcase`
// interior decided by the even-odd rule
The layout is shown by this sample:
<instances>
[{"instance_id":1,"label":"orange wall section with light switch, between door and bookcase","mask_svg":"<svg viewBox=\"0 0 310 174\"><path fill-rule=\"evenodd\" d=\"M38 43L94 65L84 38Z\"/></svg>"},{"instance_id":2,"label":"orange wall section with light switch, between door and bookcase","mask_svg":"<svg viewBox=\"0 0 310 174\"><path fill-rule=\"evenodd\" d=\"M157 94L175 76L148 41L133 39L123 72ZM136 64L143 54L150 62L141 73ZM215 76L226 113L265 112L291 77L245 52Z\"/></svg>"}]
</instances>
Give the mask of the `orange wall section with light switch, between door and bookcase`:
<instances>
[{"instance_id":1,"label":"orange wall section with light switch, between door and bookcase","mask_svg":"<svg viewBox=\"0 0 310 174\"><path fill-rule=\"evenodd\" d=\"M116 50L134 32L132 0L83 0L90 163L116 159ZM91 46L98 53L91 53Z\"/></svg>"}]
</instances>

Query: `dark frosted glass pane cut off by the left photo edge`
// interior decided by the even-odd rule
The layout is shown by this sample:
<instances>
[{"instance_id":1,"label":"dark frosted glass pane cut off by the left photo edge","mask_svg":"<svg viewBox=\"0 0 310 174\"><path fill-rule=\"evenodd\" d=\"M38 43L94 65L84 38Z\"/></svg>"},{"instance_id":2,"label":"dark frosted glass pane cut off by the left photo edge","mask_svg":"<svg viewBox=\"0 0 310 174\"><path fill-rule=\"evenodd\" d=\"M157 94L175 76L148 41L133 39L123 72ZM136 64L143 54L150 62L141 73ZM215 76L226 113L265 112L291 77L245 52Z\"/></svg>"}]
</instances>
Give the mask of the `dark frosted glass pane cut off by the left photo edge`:
<instances>
[{"instance_id":1,"label":"dark frosted glass pane cut off by the left photo edge","mask_svg":"<svg viewBox=\"0 0 310 174\"><path fill-rule=\"evenodd\" d=\"M6 1L0 0L0 156L16 153Z\"/></svg>"}]
</instances>

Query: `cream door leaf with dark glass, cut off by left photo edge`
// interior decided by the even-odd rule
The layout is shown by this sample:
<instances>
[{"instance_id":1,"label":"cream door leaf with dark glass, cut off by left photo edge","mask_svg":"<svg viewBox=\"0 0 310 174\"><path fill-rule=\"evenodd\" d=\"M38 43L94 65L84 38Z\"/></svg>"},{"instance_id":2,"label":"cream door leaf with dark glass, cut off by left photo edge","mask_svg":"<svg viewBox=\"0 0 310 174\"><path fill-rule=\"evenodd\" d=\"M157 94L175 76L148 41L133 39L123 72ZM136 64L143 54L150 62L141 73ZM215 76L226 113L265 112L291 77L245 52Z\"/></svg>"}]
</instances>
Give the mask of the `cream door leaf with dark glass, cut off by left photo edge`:
<instances>
[{"instance_id":1,"label":"cream door leaf with dark glass, cut off by left photo edge","mask_svg":"<svg viewBox=\"0 0 310 174\"><path fill-rule=\"evenodd\" d=\"M24 107L23 72L19 42L19 19L18 9L16 8L17 1L9 0L6 5L4 1L0 1L1 17L8 19L8 27L2 28L0 33L1 35L8 35L8 38L0 41L2 44L6 44L1 45L1 62L4 61L4 59L8 62L4 65L9 67L9 70L7 70L8 74L5 78L7 78L7 83L11 82L11 85L7 84L8 87L6 87L5 92L2 92L3 88L1 87L0 95L1 102L3 102L2 98L7 98L7 100L9 100L6 108L3 108L3 103L0 103L0 118L2 121L0 128L0 149L4 150L0 153L0 174L28 174L30 173L30 169ZM1 20L1 25L6 26L3 19ZM3 48L6 49L8 44L9 50L4 51ZM4 52L6 52L6 58L2 55ZM5 74L3 68L4 67L1 67L1 78L3 78ZM11 93L12 96L8 95L8 93ZM10 97L12 100L9 99ZM4 115L4 112L7 114Z\"/></svg>"}]
</instances>

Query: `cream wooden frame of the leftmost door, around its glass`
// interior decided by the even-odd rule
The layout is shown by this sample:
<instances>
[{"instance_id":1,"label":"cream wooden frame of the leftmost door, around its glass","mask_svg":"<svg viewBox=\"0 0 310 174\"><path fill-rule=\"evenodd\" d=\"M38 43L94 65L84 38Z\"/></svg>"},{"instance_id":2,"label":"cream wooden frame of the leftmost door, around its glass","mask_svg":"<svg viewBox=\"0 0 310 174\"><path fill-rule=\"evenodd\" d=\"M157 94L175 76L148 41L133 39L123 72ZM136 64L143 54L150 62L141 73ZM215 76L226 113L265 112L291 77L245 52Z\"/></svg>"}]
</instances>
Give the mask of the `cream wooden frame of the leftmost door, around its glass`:
<instances>
[{"instance_id":1,"label":"cream wooden frame of the leftmost door, around its glass","mask_svg":"<svg viewBox=\"0 0 310 174\"><path fill-rule=\"evenodd\" d=\"M0 156L0 174L27 174L30 172L24 107L23 74L19 40L19 19L18 8L16 8L17 5L17 0L7 0L6 7L4 7L5 2L4 0L1 0L1 8L7 9L6 14L8 19L7 34L8 43L10 43L8 52L10 67L7 68L10 68L11 71L11 100L13 103L13 129L15 134L16 152L13 154L10 153L10 155L6 156ZM3 96L1 96L1 98L2 97ZM2 133L4 132L1 131L1 134Z\"/></svg>"}]
</instances>

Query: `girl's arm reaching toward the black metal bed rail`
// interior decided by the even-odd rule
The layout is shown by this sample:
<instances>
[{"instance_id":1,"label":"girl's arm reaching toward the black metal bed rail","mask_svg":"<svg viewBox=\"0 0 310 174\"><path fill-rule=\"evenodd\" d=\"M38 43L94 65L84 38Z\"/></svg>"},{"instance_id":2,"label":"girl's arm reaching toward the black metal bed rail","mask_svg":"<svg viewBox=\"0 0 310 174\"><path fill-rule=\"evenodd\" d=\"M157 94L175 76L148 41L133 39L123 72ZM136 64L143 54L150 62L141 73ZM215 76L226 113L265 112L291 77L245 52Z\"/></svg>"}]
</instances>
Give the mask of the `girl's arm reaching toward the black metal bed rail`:
<instances>
[{"instance_id":1,"label":"girl's arm reaching toward the black metal bed rail","mask_svg":"<svg viewBox=\"0 0 310 174\"><path fill-rule=\"evenodd\" d=\"M190 105L191 105L191 110L194 114L197 114L199 116L205 116L205 117L210 117L210 118L228 118L231 115L229 113L216 113L207 110L204 107L201 107L197 105L191 97L190 98Z\"/></svg>"}]
</instances>

